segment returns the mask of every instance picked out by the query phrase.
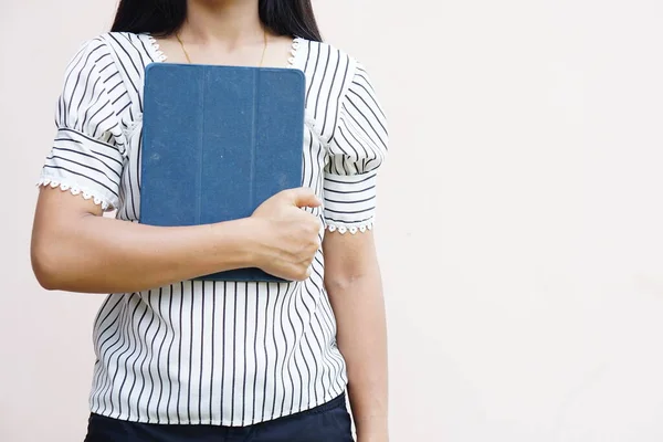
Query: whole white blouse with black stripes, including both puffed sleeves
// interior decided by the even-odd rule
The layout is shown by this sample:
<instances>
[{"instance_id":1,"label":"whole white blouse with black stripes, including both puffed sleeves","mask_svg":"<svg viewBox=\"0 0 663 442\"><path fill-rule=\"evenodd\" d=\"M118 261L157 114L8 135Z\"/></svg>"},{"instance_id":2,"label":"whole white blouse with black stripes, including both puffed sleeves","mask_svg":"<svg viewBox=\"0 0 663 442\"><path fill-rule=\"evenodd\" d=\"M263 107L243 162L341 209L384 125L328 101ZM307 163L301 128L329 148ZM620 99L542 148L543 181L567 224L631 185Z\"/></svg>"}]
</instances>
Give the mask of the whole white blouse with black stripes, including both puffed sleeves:
<instances>
[{"instance_id":1,"label":"whole white blouse with black stripes, including both puffed sleeves","mask_svg":"<svg viewBox=\"0 0 663 442\"><path fill-rule=\"evenodd\" d=\"M161 62L147 34L106 33L82 46L65 73L41 186L138 222L145 67ZM388 137L369 76L344 52L299 38L287 67L306 76L303 186L324 201L311 211L330 231L364 232ZM94 320L91 411L218 425L303 411L346 388L335 336L322 249L304 282L182 281L109 294Z\"/></svg>"}]
</instances>

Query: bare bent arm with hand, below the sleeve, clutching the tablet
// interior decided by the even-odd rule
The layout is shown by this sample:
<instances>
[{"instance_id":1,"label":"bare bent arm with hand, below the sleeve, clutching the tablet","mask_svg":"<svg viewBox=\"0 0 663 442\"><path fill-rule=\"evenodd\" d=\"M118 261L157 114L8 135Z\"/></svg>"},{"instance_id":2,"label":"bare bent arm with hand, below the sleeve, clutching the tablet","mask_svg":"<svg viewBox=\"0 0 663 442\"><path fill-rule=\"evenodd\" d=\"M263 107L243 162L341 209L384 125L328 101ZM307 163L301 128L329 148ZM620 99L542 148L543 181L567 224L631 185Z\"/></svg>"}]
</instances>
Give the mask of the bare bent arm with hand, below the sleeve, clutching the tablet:
<instances>
[{"instance_id":1,"label":"bare bent arm with hand, below the sleeve, clutching the tablet","mask_svg":"<svg viewBox=\"0 0 663 442\"><path fill-rule=\"evenodd\" d=\"M34 274L49 290L125 293L246 266L303 280L318 248L307 189L282 192L253 217L183 228L103 218L91 200L42 188L32 232Z\"/></svg>"}]
</instances>

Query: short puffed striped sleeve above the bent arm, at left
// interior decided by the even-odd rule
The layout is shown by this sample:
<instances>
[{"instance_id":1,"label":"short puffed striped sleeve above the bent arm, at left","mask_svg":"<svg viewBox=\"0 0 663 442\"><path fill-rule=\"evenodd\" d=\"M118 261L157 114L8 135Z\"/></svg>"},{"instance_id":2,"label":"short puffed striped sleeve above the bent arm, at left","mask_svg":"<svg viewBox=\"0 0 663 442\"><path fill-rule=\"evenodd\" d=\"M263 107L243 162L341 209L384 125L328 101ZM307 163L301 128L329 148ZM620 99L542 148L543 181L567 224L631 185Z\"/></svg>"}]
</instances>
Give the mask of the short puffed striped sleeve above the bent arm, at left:
<instances>
[{"instance_id":1,"label":"short puffed striped sleeve above the bent arm, at left","mask_svg":"<svg viewBox=\"0 0 663 442\"><path fill-rule=\"evenodd\" d=\"M124 80L101 39L83 44L65 71L55 110L56 136L39 185L117 208L126 139L119 110Z\"/></svg>"}]
</instances>

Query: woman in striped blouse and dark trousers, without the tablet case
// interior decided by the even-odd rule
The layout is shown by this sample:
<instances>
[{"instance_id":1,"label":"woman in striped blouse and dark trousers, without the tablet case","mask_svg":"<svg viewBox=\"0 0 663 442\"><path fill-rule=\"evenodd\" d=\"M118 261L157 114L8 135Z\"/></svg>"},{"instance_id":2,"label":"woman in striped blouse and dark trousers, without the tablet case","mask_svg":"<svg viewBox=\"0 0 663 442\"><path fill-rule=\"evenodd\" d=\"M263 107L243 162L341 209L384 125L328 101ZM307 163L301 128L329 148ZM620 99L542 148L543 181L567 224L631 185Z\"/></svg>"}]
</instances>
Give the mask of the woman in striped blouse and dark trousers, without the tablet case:
<instances>
[{"instance_id":1,"label":"woman in striped blouse and dark trousers, without the tablet case","mask_svg":"<svg viewBox=\"0 0 663 442\"><path fill-rule=\"evenodd\" d=\"M302 70L303 187L242 220L139 224L152 62ZM358 441L388 440L371 234L386 122L364 67L322 43L308 0L123 0L112 32L72 60L56 124L34 273L49 290L110 294L86 441L350 441L346 386ZM248 266L295 282L190 281Z\"/></svg>"}]
</instances>

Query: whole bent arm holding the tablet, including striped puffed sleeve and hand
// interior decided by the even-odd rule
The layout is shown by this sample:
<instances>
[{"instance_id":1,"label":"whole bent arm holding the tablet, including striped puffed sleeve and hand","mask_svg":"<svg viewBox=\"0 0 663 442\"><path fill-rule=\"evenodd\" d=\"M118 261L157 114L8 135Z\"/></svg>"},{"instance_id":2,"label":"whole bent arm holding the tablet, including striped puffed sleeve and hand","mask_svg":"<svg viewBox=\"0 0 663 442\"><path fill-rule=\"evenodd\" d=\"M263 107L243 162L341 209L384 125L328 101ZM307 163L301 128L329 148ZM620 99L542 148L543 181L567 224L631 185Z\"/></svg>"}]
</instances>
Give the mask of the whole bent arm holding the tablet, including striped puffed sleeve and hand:
<instances>
[{"instance_id":1,"label":"whole bent arm holding the tablet, including striped puffed sleeve and hand","mask_svg":"<svg viewBox=\"0 0 663 442\"><path fill-rule=\"evenodd\" d=\"M106 39L93 39L64 75L32 233L40 283L73 292L137 292L246 266L305 278L320 229L301 210L319 206L308 189L282 192L249 219L211 225L157 228L101 217L103 209L120 204L130 148L125 129L136 116L112 60Z\"/></svg>"}]
</instances>

